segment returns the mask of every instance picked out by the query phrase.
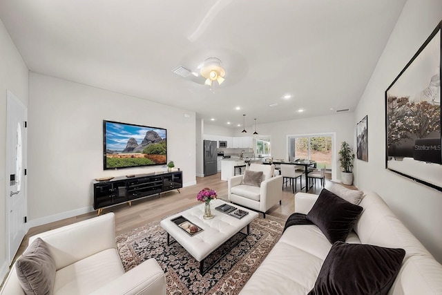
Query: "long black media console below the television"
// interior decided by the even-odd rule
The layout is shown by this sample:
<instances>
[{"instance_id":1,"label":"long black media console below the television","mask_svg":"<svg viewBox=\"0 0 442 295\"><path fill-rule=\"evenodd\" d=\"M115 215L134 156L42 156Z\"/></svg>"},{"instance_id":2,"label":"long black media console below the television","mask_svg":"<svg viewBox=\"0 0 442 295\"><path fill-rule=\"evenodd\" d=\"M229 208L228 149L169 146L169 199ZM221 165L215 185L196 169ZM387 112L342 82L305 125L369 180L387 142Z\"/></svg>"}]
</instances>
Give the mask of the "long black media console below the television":
<instances>
[{"instance_id":1,"label":"long black media console below the television","mask_svg":"<svg viewBox=\"0 0 442 295\"><path fill-rule=\"evenodd\" d=\"M121 176L107 181L94 181L94 209L98 215L102 208L152 196L163 191L182 188L182 171L137 174L134 177Z\"/></svg>"}]
</instances>

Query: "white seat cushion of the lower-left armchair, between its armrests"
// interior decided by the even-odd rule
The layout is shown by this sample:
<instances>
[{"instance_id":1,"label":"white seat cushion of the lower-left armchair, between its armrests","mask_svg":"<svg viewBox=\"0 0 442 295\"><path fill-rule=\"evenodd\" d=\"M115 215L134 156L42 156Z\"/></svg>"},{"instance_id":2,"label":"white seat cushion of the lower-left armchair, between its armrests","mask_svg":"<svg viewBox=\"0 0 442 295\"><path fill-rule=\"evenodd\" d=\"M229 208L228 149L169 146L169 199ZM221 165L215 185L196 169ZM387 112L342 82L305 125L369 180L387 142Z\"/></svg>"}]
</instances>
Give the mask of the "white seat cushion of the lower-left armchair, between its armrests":
<instances>
[{"instance_id":1,"label":"white seat cushion of the lower-left armchair, between its armrests","mask_svg":"<svg viewBox=\"0 0 442 295\"><path fill-rule=\"evenodd\" d=\"M90 294L124 274L117 249L106 249L55 274L54 295Z\"/></svg>"}]
</instances>

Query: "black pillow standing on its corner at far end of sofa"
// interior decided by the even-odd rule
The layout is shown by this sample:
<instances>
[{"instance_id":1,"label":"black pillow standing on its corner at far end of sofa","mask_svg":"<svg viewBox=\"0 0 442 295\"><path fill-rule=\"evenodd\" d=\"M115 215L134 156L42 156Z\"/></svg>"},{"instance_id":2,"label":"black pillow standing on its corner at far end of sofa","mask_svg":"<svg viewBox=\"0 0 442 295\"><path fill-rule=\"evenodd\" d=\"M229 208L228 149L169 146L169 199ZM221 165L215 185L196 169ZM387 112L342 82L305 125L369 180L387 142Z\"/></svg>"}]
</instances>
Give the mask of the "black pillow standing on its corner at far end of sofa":
<instances>
[{"instance_id":1,"label":"black pillow standing on its corner at far end of sofa","mask_svg":"<svg viewBox=\"0 0 442 295\"><path fill-rule=\"evenodd\" d=\"M319 227L332 244L338 240L345 242L362 210L361 206L347 202L331 191L323 189L307 213L307 220Z\"/></svg>"}]
</instances>

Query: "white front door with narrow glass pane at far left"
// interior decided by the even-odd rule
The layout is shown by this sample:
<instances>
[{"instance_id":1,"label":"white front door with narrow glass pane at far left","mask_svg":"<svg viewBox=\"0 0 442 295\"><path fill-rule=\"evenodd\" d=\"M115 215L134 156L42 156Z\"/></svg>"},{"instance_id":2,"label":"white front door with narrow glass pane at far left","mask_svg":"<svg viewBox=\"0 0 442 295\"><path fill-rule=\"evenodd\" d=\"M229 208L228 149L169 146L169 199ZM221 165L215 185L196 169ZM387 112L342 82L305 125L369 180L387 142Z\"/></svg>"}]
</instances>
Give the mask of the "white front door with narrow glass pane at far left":
<instances>
[{"instance_id":1,"label":"white front door with narrow glass pane at far left","mask_svg":"<svg viewBox=\"0 0 442 295\"><path fill-rule=\"evenodd\" d=\"M10 91L7 92L6 198L8 259L12 263L26 234L26 122L27 109Z\"/></svg>"}]
</instances>

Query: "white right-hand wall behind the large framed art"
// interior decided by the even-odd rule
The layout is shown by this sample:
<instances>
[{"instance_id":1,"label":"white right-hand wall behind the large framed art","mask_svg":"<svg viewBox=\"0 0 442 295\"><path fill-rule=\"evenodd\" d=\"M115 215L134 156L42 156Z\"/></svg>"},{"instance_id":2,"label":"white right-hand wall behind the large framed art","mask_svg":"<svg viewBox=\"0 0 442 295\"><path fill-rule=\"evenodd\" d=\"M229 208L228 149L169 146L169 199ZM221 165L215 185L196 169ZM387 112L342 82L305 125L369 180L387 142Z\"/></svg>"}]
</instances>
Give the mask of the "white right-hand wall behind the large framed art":
<instances>
[{"instance_id":1,"label":"white right-hand wall behind the large framed art","mask_svg":"<svg viewBox=\"0 0 442 295\"><path fill-rule=\"evenodd\" d=\"M368 115L368 159L356 160L356 185L381 194L405 226L442 262L442 193L385 169L385 90L442 19L442 1L408 0L356 108ZM356 138L354 135L353 138ZM441 175L442 177L442 175Z\"/></svg>"}]
</instances>

